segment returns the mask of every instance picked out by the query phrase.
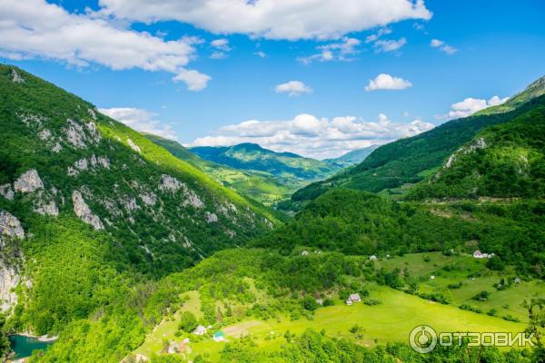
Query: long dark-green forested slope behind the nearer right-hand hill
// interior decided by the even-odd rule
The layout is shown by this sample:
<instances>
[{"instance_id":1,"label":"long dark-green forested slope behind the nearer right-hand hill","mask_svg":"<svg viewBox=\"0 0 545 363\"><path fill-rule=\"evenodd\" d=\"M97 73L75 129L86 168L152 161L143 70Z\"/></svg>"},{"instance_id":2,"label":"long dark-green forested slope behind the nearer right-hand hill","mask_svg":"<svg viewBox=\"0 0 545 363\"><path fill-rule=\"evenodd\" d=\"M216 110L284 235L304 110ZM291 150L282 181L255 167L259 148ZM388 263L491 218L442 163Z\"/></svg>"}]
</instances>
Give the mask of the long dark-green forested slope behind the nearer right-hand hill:
<instances>
[{"instance_id":1,"label":"long dark-green forested slope behind the nearer right-hand hill","mask_svg":"<svg viewBox=\"0 0 545 363\"><path fill-rule=\"evenodd\" d=\"M420 182L434 173L452 152L466 142L470 142L483 128L510 122L531 108L545 103L541 97L532 98L542 94L545 82L537 81L530 89L532 90L530 93L521 93L525 94L524 100L530 101L513 111L477 114L452 120L417 136L382 145L362 163L346 172L340 172L330 179L314 182L296 191L292 196L292 208L296 209L323 192L335 188L379 192L399 188L407 183ZM516 95L513 100L519 98L520 95ZM520 103L511 104L513 107L520 105Z\"/></svg>"}]
</instances>

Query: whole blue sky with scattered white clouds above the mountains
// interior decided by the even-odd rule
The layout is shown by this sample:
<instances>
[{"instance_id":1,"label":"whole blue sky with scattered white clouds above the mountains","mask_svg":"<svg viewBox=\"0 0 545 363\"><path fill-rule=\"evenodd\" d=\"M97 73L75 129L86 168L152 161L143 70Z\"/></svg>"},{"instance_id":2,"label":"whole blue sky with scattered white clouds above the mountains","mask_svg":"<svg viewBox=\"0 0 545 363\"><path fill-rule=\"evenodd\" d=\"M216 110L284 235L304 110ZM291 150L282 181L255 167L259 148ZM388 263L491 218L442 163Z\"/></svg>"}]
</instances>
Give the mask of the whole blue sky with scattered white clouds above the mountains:
<instances>
[{"instance_id":1,"label":"whole blue sky with scattered white clouds above the mountains","mask_svg":"<svg viewBox=\"0 0 545 363\"><path fill-rule=\"evenodd\" d=\"M545 74L544 2L271 1L5 0L0 57L143 131L318 158L429 130Z\"/></svg>"}]
</instances>

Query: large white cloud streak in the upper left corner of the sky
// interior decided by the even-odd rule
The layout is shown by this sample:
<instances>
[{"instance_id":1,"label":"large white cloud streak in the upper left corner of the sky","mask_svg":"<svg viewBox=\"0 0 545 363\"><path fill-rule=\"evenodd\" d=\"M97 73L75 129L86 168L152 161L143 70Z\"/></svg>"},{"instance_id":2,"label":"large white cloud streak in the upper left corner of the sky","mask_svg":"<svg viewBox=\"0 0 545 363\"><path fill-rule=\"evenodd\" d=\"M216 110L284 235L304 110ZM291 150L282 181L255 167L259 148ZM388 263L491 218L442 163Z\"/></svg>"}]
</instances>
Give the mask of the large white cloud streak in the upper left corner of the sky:
<instances>
[{"instance_id":1,"label":"large white cloud streak in the upper left corner of the sky","mask_svg":"<svg viewBox=\"0 0 545 363\"><path fill-rule=\"evenodd\" d=\"M70 14L45 0L0 1L0 55L10 59L180 74L194 57L193 44L193 38L164 41L94 14Z\"/></svg>"}]
</instances>

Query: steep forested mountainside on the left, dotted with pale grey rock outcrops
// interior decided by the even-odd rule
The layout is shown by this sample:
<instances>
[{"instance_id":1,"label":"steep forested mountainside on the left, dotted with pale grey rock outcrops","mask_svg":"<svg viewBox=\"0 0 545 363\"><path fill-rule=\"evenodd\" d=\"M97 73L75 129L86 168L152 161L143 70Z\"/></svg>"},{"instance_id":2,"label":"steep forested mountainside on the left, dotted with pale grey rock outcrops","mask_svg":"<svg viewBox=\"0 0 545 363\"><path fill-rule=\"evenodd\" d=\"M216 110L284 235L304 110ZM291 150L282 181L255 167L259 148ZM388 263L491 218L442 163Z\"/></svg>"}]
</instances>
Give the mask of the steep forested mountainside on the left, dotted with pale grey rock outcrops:
<instances>
[{"instance_id":1,"label":"steep forested mountainside on the left, dotted with pale grey rock outcrops","mask_svg":"<svg viewBox=\"0 0 545 363\"><path fill-rule=\"evenodd\" d=\"M139 281L275 222L91 103L13 66L0 66L0 120L0 298L10 329L61 331L126 299Z\"/></svg>"}]
</instances>

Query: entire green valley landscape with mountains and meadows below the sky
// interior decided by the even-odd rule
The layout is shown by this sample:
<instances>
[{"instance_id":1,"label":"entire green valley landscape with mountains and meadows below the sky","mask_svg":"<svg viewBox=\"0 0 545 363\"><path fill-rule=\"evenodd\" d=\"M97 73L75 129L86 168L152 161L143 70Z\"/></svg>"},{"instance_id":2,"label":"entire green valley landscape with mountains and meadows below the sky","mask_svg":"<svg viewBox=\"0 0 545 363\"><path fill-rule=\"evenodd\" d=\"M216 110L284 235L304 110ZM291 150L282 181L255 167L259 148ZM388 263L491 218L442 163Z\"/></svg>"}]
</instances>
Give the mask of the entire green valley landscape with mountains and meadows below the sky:
<instances>
[{"instance_id":1,"label":"entire green valley landscape with mountains and meadows below the sky","mask_svg":"<svg viewBox=\"0 0 545 363\"><path fill-rule=\"evenodd\" d=\"M28 338L48 340L28 363L541 363L543 89L318 161L187 149L0 65L0 355ZM286 124L309 140L391 132L352 121ZM466 335L420 353L424 326L531 344Z\"/></svg>"}]
</instances>

